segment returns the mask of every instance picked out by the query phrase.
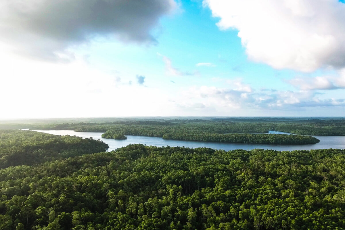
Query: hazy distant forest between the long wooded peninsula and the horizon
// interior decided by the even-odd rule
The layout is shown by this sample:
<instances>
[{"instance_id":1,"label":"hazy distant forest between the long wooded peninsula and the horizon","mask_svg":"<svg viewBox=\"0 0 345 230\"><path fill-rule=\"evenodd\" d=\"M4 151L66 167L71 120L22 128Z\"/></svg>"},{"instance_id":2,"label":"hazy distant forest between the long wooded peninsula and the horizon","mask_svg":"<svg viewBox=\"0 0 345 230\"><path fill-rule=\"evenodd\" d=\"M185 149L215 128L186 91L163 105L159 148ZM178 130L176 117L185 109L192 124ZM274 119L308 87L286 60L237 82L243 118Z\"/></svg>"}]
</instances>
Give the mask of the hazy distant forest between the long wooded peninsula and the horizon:
<instances>
[{"instance_id":1,"label":"hazy distant forest between the long wooded peninsula and the horizon","mask_svg":"<svg viewBox=\"0 0 345 230\"><path fill-rule=\"evenodd\" d=\"M29 128L32 130L75 130L84 132L106 132L109 129L145 129L148 135L145 136L163 136L169 132L178 132L187 130L191 132L203 133L267 133L268 130L289 132L300 135L322 135L322 136L344 136L345 119L341 120L296 120L288 118L213 118L213 119L96 119L92 123L2 123L0 129L19 129ZM272 121L270 121L272 120ZM159 134L150 134L150 131Z\"/></svg>"}]
</instances>

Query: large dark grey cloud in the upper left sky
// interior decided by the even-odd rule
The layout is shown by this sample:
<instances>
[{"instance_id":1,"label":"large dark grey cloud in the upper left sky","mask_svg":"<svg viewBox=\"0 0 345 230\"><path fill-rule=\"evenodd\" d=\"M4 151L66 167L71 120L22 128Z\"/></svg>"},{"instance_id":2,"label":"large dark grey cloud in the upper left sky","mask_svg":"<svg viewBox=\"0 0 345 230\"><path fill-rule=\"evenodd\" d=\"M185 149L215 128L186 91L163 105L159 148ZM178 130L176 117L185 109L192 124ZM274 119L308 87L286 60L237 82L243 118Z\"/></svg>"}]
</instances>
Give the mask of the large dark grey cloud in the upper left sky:
<instances>
[{"instance_id":1,"label":"large dark grey cloud in the upper left sky","mask_svg":"<svg viewBox=\"0 0 345 230\"><path fill-rule=\"evenodd\" d=\"M156 43L150 31L176 8L173 0L2 0L0 41L15 52L46 60L70 60L66 49L97 37Z\"/></svg>"}]
</instances>

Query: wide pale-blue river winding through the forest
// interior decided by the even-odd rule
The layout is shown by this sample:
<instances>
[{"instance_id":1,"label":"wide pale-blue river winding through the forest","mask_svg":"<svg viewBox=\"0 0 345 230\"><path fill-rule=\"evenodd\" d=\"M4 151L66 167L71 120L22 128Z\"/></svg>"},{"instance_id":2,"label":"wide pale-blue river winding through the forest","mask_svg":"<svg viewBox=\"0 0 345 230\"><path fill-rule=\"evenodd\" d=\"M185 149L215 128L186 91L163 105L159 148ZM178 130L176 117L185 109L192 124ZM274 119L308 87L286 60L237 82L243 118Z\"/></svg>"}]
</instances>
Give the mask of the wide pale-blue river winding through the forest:
<instances>
[{"instance_id":1,"label":"wide pale-blue river winding through the forest","mask_svg":"<svg viewBox=\"0 0 345 230\"><path fill-rule=\"evenodd\" d=\"M226 143L226 142L204 142L204 141L183 141L183 140L167 140L160 137L131 136L126 135L126 140L115 140L102 138L102 132L75 132L72 130L33 130L56 135L70 135L82 138L92 137L100 139L109 145L108 151L127 146L128 144L146 144L148 146L185 146L188 148L207 147L212 149L224 149L225 151L234 149L273 149L273 150L311 150L311 149L345 149L345 136L313 136L320 140L316 144L303 145L283 145L283 144L252 144L252 143ZM285 132L269 131L269 133Z\"/></svg>"}]
</instances>

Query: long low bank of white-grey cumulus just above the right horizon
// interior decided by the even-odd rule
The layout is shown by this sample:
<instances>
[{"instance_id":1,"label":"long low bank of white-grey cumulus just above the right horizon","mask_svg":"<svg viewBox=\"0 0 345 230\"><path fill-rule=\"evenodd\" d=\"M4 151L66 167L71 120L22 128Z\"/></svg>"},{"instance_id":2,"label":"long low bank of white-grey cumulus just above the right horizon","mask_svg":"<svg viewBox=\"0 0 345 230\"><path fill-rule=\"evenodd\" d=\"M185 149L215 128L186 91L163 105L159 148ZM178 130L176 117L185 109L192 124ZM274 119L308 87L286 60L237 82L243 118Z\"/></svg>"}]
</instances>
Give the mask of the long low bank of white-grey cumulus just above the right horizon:
<instances>
[{"instance_id":1,"label":"long low bank of white-grey cumulus just above the right horizon","mask_svg":"<svg viewBox=\"0 0 345 230\"><path fill-rule=\"evenodd\" d=\"M344 99L321 99L315 91L249 91L245 88L191 87L180 93L190 104L202 103L205 108L298 110L301 107L345 106ZM189 106L190 107L190 106Z\"/></svg>"}]
</instances>

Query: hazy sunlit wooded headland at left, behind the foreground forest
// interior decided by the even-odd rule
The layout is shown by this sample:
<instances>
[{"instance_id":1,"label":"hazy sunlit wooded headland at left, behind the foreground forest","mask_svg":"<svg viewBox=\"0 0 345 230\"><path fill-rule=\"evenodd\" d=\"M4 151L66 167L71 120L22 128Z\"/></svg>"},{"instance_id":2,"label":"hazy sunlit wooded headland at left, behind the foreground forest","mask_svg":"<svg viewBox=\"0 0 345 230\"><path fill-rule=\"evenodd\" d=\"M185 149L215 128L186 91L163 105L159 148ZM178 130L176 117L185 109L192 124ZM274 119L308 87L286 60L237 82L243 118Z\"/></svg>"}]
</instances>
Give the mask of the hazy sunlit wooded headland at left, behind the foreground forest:
<instances>
[{"instance_id":1,"label":"hazy sunlit wooded headland at left, behind the foreground forest","mask_svg":"<svg viewBox=\"0 0 345 230\"><path fill-rule=\"evenodd\" d=\"M108 144L76 136L57 136L23 130L0 130L0 168L33 165L105 151ZM1 229L1 228L0 228Z\"/></svg>"}]
</instances>

